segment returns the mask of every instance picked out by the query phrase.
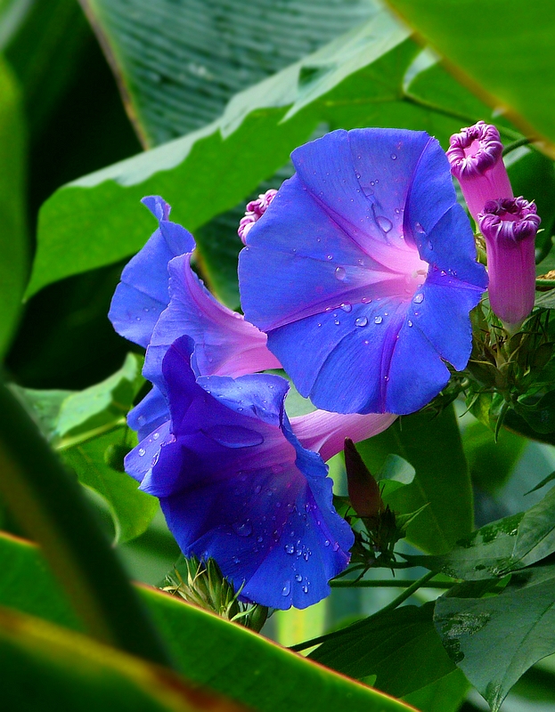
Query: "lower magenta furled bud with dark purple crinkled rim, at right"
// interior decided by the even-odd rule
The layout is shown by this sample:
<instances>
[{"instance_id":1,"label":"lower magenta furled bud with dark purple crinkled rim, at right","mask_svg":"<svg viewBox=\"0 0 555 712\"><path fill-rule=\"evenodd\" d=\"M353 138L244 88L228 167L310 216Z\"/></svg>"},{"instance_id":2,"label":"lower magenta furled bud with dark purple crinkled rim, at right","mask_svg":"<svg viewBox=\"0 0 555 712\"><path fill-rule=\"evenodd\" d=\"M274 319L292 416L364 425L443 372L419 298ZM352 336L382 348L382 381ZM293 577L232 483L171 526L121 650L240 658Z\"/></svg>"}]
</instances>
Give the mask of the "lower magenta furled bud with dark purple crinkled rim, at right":
<instances>
[{"instance_id":1,"label":"lower magenta furled bud with dark purple crinkled rim, at right","mask_svg":"<svg viewBox=\"0 0 555 712\"><path fill-rule=\"evenodd\" d=\"M478 215L486 239L489 301L503 326L517 331L535 297L535 233L541 219L524 198L490 200Z\"/></svg>"}]
</instances>

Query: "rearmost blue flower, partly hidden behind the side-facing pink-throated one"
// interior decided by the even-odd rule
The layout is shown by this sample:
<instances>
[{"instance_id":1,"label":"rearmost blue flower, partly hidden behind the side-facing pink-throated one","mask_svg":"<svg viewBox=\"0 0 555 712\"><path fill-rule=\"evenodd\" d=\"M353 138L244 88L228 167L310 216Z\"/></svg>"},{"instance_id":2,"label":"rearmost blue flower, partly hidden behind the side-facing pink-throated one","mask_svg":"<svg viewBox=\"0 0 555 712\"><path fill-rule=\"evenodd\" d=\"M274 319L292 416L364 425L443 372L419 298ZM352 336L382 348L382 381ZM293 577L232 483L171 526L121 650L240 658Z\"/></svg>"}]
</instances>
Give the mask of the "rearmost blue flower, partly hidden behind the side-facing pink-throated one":
<instances>
[{"instance_id":1,"label":"rearmost blue flower, partly hidden behind the side-facing pink-throated one","mask_svg":"<svg viewBox=\"0 0 555 712\"><path fill-rule=\"evenodd\" d=\"M159 196L141 201L157 218L159 226L143 249L127 263L108 315L120 336L148 346L154 325L167 307L167 263L195 247L192 234L170 222L170 206Z\"/></svg>"}]
</instances>

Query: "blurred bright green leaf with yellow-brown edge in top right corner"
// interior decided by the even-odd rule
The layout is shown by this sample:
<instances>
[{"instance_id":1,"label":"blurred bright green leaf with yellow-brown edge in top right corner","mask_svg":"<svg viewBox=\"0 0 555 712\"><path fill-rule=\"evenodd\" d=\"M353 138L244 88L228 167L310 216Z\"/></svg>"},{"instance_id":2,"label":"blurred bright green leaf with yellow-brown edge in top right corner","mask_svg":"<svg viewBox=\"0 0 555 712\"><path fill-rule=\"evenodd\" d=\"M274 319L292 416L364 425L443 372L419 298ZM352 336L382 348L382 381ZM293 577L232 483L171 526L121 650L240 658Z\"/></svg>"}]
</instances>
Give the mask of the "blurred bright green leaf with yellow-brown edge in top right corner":
<instances>
[{"instance_id":1,"label":"blurred bright green leaf with yellow-brown edge in top right corner","mask_svg":"<svg viewBox=\"0 0 555 712\"><path fill-rule=\"evenodd\" d=\"M492 107L505 109L525 134L551 141L545 148L555 155L555 7L549 0L538 0L526 16L518 0L389 4L445 57L450 72Z\"/></svg>"}]
</instances>

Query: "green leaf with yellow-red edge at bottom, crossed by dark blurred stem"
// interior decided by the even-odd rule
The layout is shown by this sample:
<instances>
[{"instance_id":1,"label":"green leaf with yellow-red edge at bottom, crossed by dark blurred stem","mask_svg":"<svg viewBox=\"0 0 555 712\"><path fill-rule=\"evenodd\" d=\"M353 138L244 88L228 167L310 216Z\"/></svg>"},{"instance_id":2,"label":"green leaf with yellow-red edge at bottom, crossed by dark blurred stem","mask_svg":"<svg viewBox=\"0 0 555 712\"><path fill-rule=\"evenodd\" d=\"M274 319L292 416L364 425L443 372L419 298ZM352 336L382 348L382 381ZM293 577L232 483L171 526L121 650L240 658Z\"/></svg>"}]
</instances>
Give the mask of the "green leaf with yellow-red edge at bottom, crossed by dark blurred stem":
<instances>
[{"instance_id":1,"label":"green leaf with yellow-red edge at bottom, crossed by dark blurred stem","mask_svg":"<svg viewBox=\"0 0 555 712\"><path fill-rule=\"evenodd\" d=\"M35 546L0 535L0 604L58 622L60 592L44 573ZM29 580L42 595L33 593ZM260 635L154 589L140 587L178 669L195 684L221 692L261 712L286 712L291 700L305 712L335 712L348 700L353 712L402 712L408 708L346 677L284 650ZM67 619L66 619L67 621Z\"/></svg>"}]
</instances>

